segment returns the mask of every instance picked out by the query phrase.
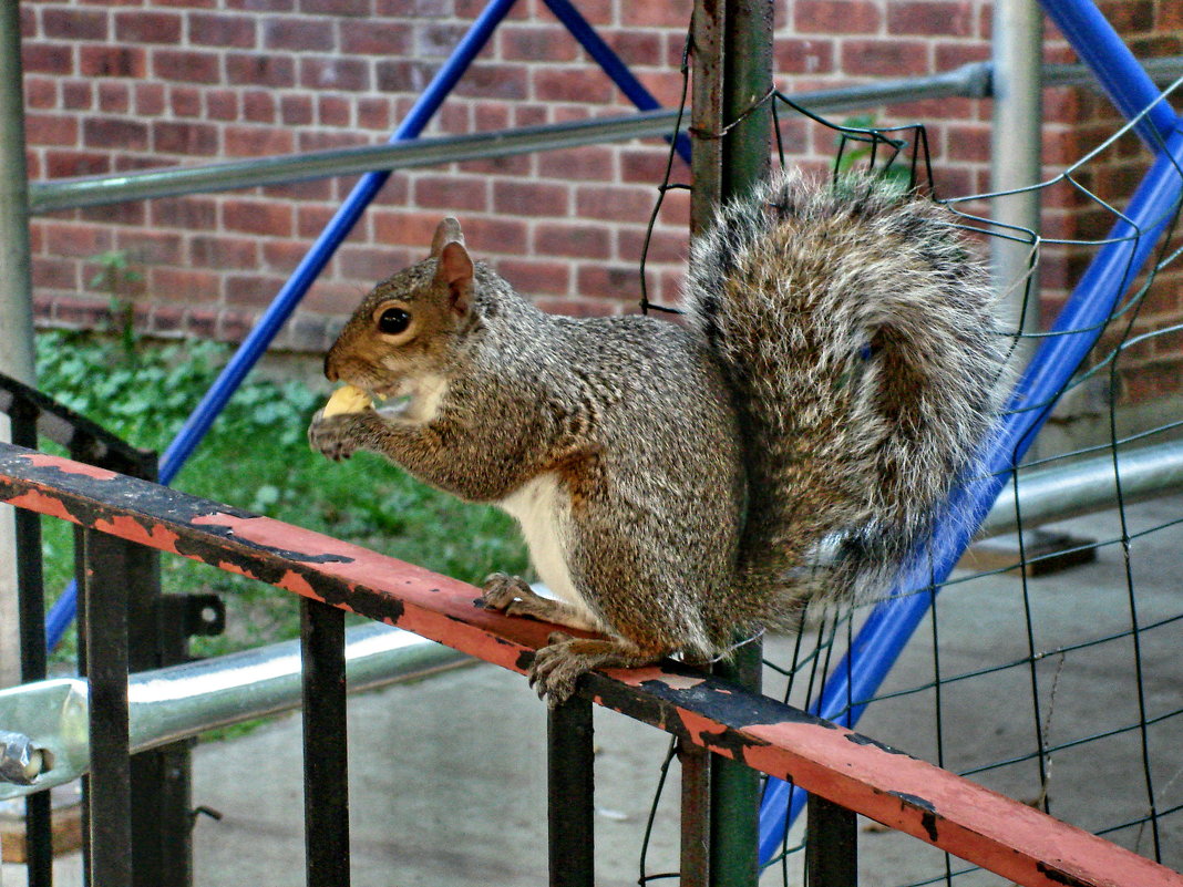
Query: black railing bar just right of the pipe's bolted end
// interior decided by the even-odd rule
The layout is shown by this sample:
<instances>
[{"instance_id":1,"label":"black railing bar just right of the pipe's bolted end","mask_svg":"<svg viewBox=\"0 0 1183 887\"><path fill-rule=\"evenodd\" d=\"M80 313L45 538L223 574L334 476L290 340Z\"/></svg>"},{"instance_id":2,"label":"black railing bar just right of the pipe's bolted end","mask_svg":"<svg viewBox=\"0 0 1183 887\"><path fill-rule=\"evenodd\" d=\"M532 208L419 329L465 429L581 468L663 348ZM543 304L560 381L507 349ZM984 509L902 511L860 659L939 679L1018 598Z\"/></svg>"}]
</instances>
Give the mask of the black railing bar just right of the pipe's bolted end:
<instances>
[{"instance_id":1,"label":"black railing bar just right of the pipe's bolted end","mask_svg":"<svg viewBox=\"0 0 1183 887\"><path fill-rule=\"evenodd\" d=\"M83 531L85 661L90 684L86 790L89 882L131 887L127 543Z\"/></svg>"}]
</instances>

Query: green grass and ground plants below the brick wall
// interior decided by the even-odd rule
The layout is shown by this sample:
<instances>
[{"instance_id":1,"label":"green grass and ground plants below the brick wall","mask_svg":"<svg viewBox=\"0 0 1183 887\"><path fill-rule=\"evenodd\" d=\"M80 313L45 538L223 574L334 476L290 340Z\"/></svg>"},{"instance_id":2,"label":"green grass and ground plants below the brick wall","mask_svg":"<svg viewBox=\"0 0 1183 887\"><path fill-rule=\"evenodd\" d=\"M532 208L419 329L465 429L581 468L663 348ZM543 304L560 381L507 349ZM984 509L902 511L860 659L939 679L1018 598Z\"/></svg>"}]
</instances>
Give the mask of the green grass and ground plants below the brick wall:
<instances>
[{"instance_id":1,"label":"green grass and ground plants below the brick wall","mask_svg":"<svg viewBox=\"0 0 1183 887\"><path fill-rule=\"evenodd\" d=\"M38 338L41 390L140 447L162 451L228 356L189 342L146 347L47 332ZM173 486L381 551L466 582L494 570L525 572L513 522L491 506L432 490L368 453L334 464L305 442L323 394L298 382L247 381ZM43 522L46 588L57 596L72 570L72 533ZM295 637L299 617L286 591L186 558L163 556L166 593L216 591L227 630L193 641L218 655ZM54 658L72 660L73 640Z\"/></svg>"}]
</instances>

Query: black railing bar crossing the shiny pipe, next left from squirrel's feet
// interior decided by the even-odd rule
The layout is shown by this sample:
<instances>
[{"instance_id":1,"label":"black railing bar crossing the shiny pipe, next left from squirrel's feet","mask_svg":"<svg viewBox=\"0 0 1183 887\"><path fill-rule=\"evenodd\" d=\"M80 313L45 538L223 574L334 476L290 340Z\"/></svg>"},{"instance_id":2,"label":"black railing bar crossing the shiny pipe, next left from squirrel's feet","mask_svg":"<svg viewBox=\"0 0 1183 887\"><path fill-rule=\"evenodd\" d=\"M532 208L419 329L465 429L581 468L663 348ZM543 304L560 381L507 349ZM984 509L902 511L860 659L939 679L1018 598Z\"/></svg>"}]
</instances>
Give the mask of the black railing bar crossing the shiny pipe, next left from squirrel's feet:
<instances>
[{"instance_id":1,"label":"black railing bar crossing the shiny pipe, next left from squirrel's feet","mask_svg":"<svg viewBox=\"0 0 1183 887\"><path fill-rule=\"evenodd\" d=\"M309 887L349 885L345 614L300 598L304 853Z\"/></svg>"}]
</instances>

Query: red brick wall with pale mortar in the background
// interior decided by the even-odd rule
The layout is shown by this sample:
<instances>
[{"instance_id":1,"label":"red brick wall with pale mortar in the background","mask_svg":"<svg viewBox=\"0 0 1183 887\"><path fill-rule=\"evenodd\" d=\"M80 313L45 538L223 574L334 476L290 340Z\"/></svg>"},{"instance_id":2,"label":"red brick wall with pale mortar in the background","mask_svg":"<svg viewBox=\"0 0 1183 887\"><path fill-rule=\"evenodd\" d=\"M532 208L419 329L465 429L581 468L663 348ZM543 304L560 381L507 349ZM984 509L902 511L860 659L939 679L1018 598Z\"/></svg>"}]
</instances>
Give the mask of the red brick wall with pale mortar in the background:
<instances>
[{"instance_id":1,"label":"red brick wall with pale mortar in the background","mask_svg":"<svg viewBox=\"0 0 1183 887\"><path fill-rule=\"evenodd\" d=\"M205 163L384 141L479 12L478 0L25 0L21 4L33 179ZM691 0L577 0L578 8L665 104L677 101ZM1143 54L1181 52L1177 0L1117 0L1106 12ZM777 85L787 91L944 71L989 56L987 0L777 2ZM1069 60L1048 32L1048 58ZM1048 174L1117 125L1079 90L1046 95ZM428 134L618 115L631 110L541 0L518 0ZM930 125L944 194L989 187L990 104L940 99L872 109L883 123ZM788 119L796 162L823 167L827 130ZM629 310L660 181L662 142L595 145L392 176L316 284L282 344L319 350L334 318L379 278L424 254L457 214L474 253L549 310ZM1118 147L1097 173L1127 192L1144 158ZM684 174L683 174L684 175ZM323 180L54 213L33 225L39 318L93 324L106 296L96 257L124 253L141 279L137 322L160 334L240 338L354 180ZM649 255L649 294L677 299L686 252L685 194L672 193ZM1092 232L1078 196L1049 196L1065 237ZM1099 235L1091 233L1090 235ZM1048 255L1048 299L1079 259ZM1148 317L1177 317L1174 283ZM1171 313L1175 312L1175 313ZM1163 355L1157 355L1163 357ZM1146 355L1156 357L1155 354ZM1175 368L1177 355L1168 355ZM1159 386L1161 388L1162 386Z\"/></svg>"}]
</instances>

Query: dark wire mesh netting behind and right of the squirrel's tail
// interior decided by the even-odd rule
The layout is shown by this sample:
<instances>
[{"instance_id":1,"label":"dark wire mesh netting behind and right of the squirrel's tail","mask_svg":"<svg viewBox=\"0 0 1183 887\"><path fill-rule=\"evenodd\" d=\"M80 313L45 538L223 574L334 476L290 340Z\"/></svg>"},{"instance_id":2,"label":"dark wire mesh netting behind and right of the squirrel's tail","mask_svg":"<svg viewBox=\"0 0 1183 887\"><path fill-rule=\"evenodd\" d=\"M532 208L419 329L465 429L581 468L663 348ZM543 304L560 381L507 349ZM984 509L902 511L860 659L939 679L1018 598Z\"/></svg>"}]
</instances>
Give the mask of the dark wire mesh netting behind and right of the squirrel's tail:
<instances>
[{"instance_id":1,"label":"dark wire mesh netting behind and right of the squirrel's tail","mask_svg":"<svg viewBox=\"0 0 1183 887\"><path fill-rule=\"evenodd\" d=\"M684 57L684 76L687 67ZM1169 106L1178 86L1158 102ZM858 721L877 740L1183 867L1183 596L1175 578L1183 500L1174 497L1183 419L1177 399L1163 396L1183 334L1177 147L1146 125L1148 108L1051 180L948 198L923 125L840 125L780 92L765 101L782 164L793 147L782 137L788 119L797 134L802 118L833 130L833 174L868 169L927 194L983 257L1009 251L1022 271L996 280L1013 309L998 335L1013 342L1015 395L990 477L969 481L959 500L984 511L1001 485L982 533L991 538L980 538L948 577L943 549L961 545L936 539L927 577L913 575L891 606L807 608L800 634L767 640L764 692ZM1131 156L1150 173L1137 189L1116 189L1104 171ZM671 149L654 218L666 192L687 187L672 182L673 158ZM1042 234L995 221L1003 201L1032 192L1045 207L1069 207L1075 221L1060 214ZM1064 268L1073 292L1058 313L1041 312L1041 273L1056 278ZM677 310L644 294L642 309ZM1049 417L1066 414L1084 421L1032 446ZM975 505L975 497L989 501ZM896 630L910 640L897 652L884 623L909 600L911 627ZM868 668L886 673L881 684L859 679ZM654 808L672 782L667 768ZM762 882L800 882L803 802L775 781L765 788ZM1006 883L875 823L862 823L859 844L860 883ZM640 882L677 879L652 869L642 850Z\"/></svg>"}]
</instances>

